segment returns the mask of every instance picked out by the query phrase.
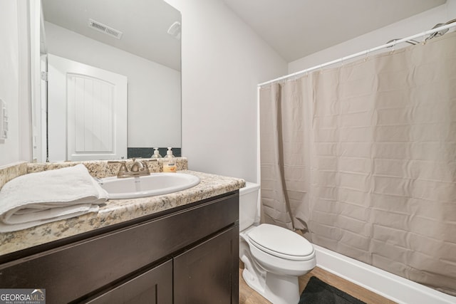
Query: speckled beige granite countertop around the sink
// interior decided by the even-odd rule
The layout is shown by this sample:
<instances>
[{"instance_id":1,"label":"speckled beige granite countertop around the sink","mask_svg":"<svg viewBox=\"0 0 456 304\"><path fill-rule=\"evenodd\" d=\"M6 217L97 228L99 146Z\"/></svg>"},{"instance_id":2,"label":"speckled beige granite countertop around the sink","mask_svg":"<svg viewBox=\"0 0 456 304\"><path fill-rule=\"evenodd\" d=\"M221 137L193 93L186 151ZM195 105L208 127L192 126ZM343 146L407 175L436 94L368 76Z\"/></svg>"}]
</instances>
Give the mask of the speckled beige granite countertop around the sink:
<instances>
[{"instance_id":1,"label":"speckled beige granite countertop around the sink","mask_svg":"<svg viewBox=\"0 0 456 304\"><path fill-rule=\"evenodd\" d=\"M194 172L182 173L199 177L197 186L172 194L149 196L139 199L113 199L100 206L98 213L84 214L49 224L0 234L0 256L6 253L31 248L43 243L75 236L113 224L119 224L141 216L155 214L178 206L208 199L212 196L235 191L245 186L244 179Z\"/></svg>"}]
</instances>

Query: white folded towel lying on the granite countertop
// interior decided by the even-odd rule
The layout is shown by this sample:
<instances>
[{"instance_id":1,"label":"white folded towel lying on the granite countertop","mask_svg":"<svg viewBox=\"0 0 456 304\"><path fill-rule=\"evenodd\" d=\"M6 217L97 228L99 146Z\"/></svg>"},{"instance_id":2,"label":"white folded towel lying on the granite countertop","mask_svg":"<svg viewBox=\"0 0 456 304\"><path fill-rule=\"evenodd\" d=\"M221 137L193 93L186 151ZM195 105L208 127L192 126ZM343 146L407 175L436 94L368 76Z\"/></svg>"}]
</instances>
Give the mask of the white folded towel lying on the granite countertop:
<instances>
[{"instance_id":1,"label":"white folded towel lying on the granite countertop","mask_svg":"<svg viewBox=\"0 0 456 304\"><path fill-rule=\"evenodd\" d=\"M107 199L83 164L25 174L0 189L0 232L97 212Z\"/></svg>"}]
</instances>

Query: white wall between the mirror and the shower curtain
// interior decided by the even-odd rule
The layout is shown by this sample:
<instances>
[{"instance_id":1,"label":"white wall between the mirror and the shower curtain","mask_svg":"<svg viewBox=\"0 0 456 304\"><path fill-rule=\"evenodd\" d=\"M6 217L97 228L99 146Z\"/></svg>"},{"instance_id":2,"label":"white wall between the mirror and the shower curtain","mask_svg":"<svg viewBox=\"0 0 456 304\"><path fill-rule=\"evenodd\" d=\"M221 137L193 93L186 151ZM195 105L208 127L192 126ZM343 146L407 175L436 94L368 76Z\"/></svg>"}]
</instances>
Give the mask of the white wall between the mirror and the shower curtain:
<instances>
[{"instance_id":1,"label":"white wall between the mirror and the shower curtain","mask_svg":"<svg viewBox=\"0 0 456 304\"><path fill-rule=\"evenodd\" d=\"M182 154L192 170L257 181L257 84L286 62L221 0L182 13Z\"/></svg>"}]
</instances>

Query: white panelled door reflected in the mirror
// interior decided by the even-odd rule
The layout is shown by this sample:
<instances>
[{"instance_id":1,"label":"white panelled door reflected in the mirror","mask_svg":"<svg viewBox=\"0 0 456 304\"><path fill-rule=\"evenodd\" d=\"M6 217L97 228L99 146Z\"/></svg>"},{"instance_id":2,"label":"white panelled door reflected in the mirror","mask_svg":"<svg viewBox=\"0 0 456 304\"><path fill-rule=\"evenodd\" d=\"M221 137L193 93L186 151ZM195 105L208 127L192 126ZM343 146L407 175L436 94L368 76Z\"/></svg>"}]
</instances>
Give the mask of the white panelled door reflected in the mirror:
<instances>
[{"instance_id":1,"label":"white panelled door reflected in the mirror","mask_svg":"<svg viewBox=\"0 0 456 304\"><path fill-rule=\"evenodd\" d=\"M127 158L127 77L48 54L49 160Z\"/></svg>"}]
</instances>

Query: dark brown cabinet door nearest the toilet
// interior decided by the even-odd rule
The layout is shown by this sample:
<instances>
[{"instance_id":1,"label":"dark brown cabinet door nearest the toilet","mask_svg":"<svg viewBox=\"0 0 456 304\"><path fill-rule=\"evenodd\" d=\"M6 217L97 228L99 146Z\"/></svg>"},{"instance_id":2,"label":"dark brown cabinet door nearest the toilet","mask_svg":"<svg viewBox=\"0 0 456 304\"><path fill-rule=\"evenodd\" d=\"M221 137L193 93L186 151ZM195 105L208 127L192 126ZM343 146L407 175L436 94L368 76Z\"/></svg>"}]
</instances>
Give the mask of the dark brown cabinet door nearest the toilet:
<instances>
[{"instance_id":1,"label":"dark brown cabinet door nearest the toilet","mask_svg":"<svg viewBox=\"0 0 456 304\"><path fill-rule=\"evenodd\" d=\"M174 303L239 303L239 226L174 258Z\"/></svg>"}]
</instances>

